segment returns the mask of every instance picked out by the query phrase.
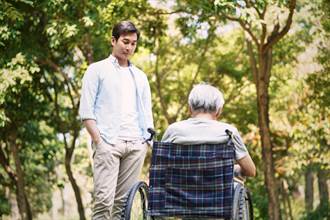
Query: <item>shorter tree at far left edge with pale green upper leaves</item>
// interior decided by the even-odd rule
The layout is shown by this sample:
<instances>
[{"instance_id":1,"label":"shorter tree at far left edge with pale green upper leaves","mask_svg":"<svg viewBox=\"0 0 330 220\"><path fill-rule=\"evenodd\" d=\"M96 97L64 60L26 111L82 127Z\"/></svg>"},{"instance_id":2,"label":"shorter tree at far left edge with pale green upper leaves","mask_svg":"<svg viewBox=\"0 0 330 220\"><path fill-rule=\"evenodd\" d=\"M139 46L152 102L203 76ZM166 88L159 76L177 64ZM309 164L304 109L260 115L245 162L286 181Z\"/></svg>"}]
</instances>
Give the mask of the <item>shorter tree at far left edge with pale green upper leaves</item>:
<instances>
[{"instance_id":1,"label":"shorter tree at far left edge with pale green upper leaves","mask_svg":"<svg viewBox=\"0 0 330 220\"><path fill-rule=\"evenodd\" d=\"M48 103L40 96L39 68L33 59L17 54L0 73L5 77L3 82L9 81L1 92L0 104L6 117L0 127L1 183L15 192L22 219L32 219L50 207L51 191L47 187L54 183L56 150L54 142L47 139L54 139L55 133L38 121L47 120L49 115ZM28 110L31 106L33 111Z\"/></svg>"}]
</instances>

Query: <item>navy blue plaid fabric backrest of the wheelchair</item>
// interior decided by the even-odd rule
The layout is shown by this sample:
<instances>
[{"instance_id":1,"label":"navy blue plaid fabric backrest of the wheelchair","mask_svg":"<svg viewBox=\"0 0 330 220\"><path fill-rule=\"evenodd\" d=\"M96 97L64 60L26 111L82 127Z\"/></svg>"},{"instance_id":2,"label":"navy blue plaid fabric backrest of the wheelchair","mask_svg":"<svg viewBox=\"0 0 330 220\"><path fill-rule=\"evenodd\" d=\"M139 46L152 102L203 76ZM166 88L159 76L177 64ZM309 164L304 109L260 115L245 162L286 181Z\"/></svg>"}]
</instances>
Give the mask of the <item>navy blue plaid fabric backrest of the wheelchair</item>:
<instances>
[{"instance_id":1,"label":"navy blue plaid fabric backrest of the wheelchair","mask_svg":"<svg viewBox=\"0 0 330 220\"><path fill-rule=\"evenodd\" d=\"M234 147L154 142L150 167L151 216L230 218Z\"/></svg>"}]
</instances>

